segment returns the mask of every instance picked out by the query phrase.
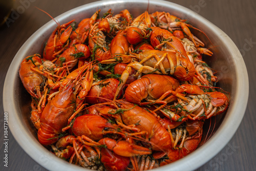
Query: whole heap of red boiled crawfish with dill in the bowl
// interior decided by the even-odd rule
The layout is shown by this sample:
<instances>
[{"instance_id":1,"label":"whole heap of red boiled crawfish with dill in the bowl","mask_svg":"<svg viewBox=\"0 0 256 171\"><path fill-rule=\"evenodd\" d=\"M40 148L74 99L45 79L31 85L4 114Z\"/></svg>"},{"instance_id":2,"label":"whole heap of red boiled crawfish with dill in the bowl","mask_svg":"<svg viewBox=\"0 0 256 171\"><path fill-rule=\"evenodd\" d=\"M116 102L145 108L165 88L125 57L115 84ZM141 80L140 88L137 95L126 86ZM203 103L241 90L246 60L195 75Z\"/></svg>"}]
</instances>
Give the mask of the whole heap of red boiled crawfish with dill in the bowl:
<instances>
[{"instance_id":1,"label":"whole heap of red boiled crawfish with dill in the bowl","mask_svg":"<svg viewBox=\"0 0 256 171\"><path fill-rule=\"evenodd\" d=\"M98 170L146 170L198 147L228 98L186 20L128 10L59 25L19 76L38 140L59 158ZM57 23L57 22L56 22ZM42 56L42 57L41 57Z\"/></svg>"}]
</instances>

